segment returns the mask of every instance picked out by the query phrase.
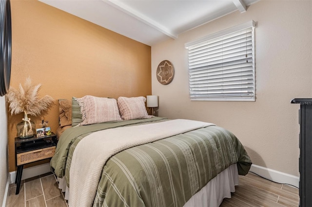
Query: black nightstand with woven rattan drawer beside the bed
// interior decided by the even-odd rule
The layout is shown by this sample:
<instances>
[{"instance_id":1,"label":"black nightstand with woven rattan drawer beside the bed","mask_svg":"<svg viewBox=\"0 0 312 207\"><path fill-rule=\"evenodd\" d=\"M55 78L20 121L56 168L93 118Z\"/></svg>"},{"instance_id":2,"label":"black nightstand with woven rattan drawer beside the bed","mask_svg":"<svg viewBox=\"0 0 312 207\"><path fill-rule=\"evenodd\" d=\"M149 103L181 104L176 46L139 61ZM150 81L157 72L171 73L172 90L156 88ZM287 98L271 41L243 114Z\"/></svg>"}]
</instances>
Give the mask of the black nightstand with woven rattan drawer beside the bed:
<instances>
[{"instance_id":1,"label":"black nightstand with woven rattan drawer beside the bed","mask_svg":"<svg viewBox=\"0 0 312 207\"><path fill-rule=\"evenodd\" d=\"M24 164L51 158L55 153L57 142L57 136L53 132L50 136L39 138L37 136L24 139L15 138L15 160L18 167L15 178L17 184L15 194L20 192L20 179Z\"/></svg>"}]
</instances>

